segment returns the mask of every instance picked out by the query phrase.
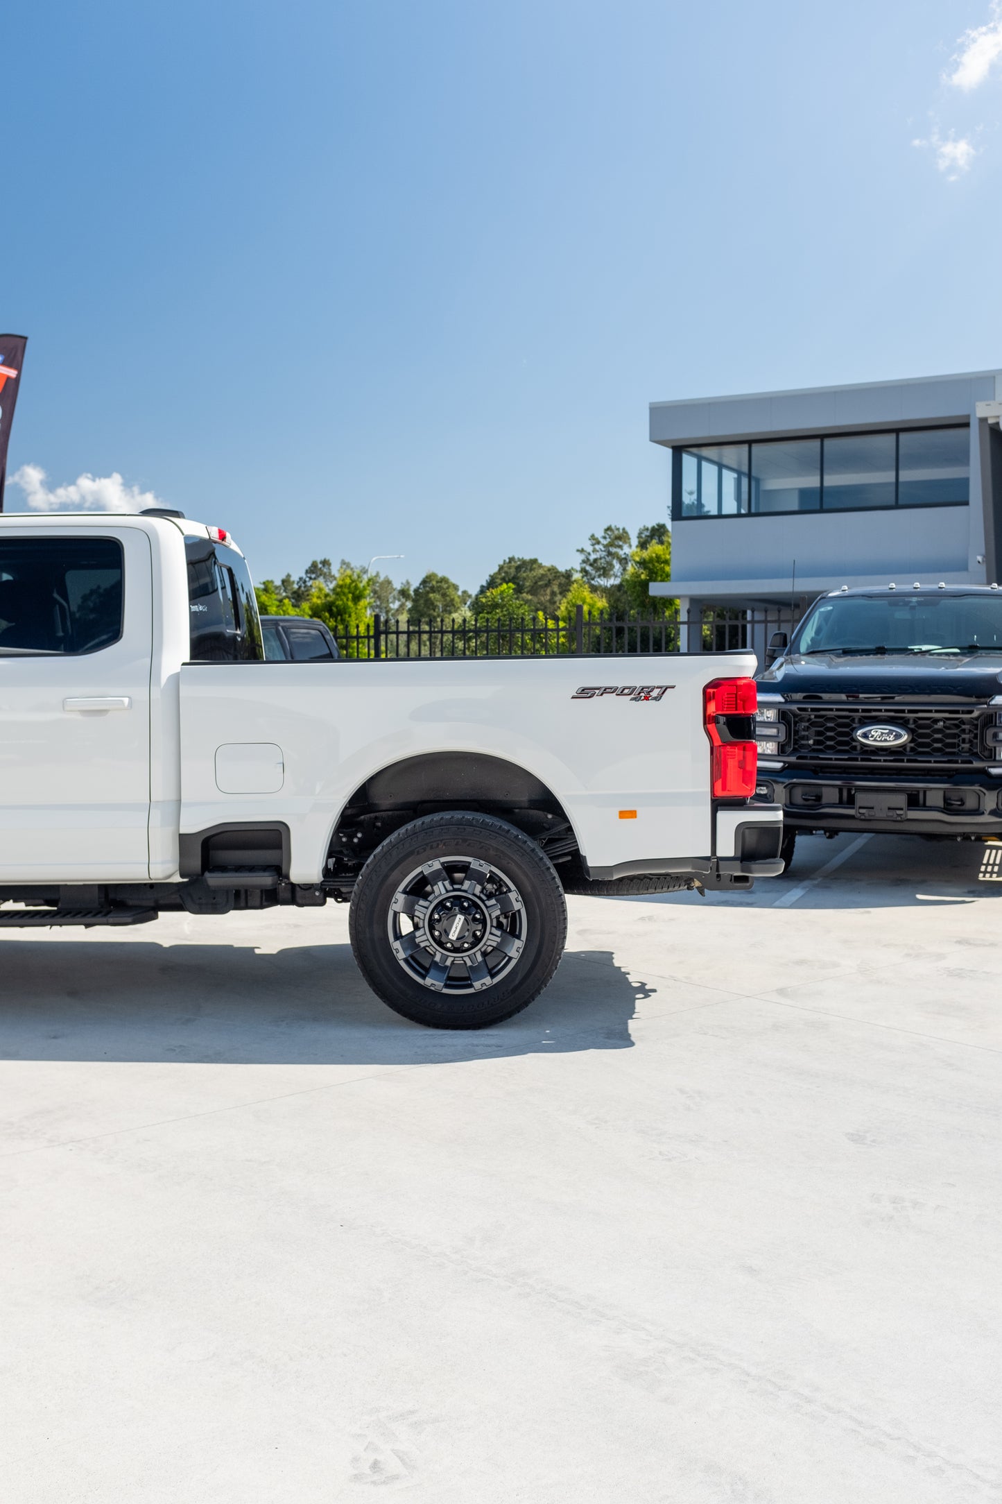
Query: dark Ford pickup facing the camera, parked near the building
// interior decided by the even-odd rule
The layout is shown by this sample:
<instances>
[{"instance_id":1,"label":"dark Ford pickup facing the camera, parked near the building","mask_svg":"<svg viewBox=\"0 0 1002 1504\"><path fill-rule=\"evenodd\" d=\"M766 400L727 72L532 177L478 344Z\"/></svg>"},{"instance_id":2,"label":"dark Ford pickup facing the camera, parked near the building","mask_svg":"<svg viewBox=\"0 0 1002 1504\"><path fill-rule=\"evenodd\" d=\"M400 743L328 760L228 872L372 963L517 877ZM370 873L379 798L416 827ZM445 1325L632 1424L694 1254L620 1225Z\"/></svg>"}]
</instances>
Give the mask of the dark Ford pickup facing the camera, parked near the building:
<instances>
[{"instance_id":1,"label":"dark Ford pickup facing the camera, parked near the building","mask_svg":"<svg viewBox=\"0 0 1002 1504\"><path fill-rule=\"evenodd\" d=\"M838 590L759 675L757 797L798 830L1002 836L1002 590Z\"/></svg>"}]
</instances>

